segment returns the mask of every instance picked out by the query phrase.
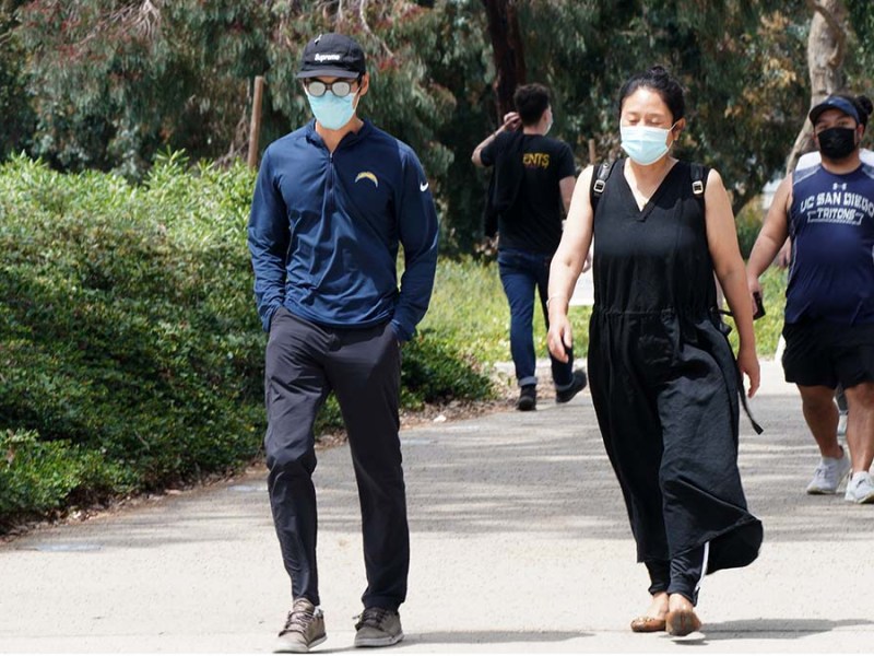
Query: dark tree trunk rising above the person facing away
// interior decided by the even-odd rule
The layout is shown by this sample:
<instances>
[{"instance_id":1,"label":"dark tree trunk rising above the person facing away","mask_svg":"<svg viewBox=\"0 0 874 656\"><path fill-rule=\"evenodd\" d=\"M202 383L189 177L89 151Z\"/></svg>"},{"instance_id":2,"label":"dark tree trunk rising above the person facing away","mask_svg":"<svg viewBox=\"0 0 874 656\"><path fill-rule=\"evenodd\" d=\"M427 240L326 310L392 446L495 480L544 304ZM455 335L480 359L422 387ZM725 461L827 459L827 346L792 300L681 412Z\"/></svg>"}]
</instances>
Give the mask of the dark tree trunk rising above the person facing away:
<instances>
[{"instance_id":1,"label":"dark tree trunk rising above the person facing away","mask_svg":"<svg viewBox=\"0 0 874 656\"><path fill-rule=\"evenodd\" d=\"M512 94L525 83L525 58L519 32L517 0L483 0L495 58L495 105L498 125L512 112Z\"/></svg>"}]
</instances>

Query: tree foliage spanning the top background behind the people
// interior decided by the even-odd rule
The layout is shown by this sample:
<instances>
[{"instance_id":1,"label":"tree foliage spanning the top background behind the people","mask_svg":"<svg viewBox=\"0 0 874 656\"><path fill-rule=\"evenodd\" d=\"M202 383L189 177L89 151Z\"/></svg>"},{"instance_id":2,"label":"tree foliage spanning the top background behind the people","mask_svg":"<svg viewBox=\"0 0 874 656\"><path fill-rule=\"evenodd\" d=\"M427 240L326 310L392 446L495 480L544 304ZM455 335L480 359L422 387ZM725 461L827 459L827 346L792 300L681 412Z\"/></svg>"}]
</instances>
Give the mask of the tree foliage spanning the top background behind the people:
<instances>
[{"instance_id":1,"label":"tree foliage spanning the top background behind the people","mask_svg":"<svg viewBox=\"0 0 874 656\"><path fill-rule=\"evenodd\" d=\"M2 7L0 103L13 117L0 132L2 152L27 148L62 169L132 178L144 176L166 148L185 149L193 160L244 154L256 74L268 83L261 147L302 125L309 110L294 73L303 45L320 32L354 35L373 75L362 112L420 153L440 206L445 253L471 250L479 235L485 178L469 160L506 103L496 93L501 52L512 55L525 81L553 89L554 134L571 143L580 164L590 139L598 157L618 154L622 82L653 63L668 66L688 91L680 154L718 168L735 208L782 169L808 108L806 0L5 0ZM867 45L874 17L866 0L847 0L847 73L863 91L874 65ZM495 44L501 11L518 22L505 25L509 50Z\"/></svg>"}]
</instances>

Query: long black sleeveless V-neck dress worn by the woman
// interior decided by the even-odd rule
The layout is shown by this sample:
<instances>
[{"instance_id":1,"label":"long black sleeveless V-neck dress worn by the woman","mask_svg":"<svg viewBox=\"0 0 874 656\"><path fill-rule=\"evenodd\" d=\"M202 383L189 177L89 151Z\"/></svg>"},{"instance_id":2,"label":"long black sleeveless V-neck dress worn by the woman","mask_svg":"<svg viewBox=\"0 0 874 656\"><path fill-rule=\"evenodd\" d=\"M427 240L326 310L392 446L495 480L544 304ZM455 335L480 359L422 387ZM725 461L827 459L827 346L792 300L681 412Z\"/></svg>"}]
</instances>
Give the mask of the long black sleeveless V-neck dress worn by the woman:
<instances>
[{"instance_id":1,"label":"long black sleeveless V-neck dress worn by the woman","mask_svg":"<svg viewBox=\"0 0 874 656\"><path fill-rule=\"evenodd\" d=\"M707 572L753 562L761 523L737 471L739 374L717 312L702 199L677 162L639 210L613 167L594 215L589 383L638 561L710 542Z\"/></svg>"}]
</instances>

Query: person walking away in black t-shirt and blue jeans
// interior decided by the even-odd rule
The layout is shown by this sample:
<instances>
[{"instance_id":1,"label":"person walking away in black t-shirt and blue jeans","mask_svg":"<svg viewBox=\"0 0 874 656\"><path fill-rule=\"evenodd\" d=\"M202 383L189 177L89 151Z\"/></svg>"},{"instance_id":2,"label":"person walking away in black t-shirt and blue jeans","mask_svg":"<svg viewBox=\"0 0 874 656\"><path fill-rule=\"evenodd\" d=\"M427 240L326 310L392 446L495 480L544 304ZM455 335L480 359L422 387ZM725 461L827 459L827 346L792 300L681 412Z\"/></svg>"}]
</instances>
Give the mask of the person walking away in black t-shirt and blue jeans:
<instances>
[{"instance_id":1,"label":"person walking away in black t-shirt and blue jeans","mask_svg":"<svg viewBox=\"0 0 874 656\"><path fill-rule=\"evenodd\" d=\"M498 215L498 268L510 305L510 351L520 393L519 410L536 408L533 338L534 290L548 329L547 284L553 254L562 241L562 221L570 207L576 166L570 147L546 137L553 125L550 91L527 84L513 94L516 112L473 151L477 166L495 166L494 197L507 204ZM509 187L508 187L509 186ZM555 400L566 403L586 387L574 359L552 355Z\"/></svg>"}]
</instances>

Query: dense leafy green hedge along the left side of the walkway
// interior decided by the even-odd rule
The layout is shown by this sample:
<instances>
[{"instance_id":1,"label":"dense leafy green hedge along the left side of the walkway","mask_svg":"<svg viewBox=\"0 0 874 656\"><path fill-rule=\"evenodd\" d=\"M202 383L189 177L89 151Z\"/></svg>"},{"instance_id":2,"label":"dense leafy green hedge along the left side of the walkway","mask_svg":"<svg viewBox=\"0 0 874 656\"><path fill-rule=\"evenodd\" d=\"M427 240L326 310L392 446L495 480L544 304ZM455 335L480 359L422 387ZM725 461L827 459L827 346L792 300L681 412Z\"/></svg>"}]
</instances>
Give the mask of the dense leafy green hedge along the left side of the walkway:
<instances>
[{"instance_id":1,"label":"dense leafy green hedge along the left side of the walkway","mask_svg":"<svg viewBox=\"0 0 874 656\"><path fill-rule=\"evenodd\" d=\"M191 169L178 154L141 186L26 159L0 167L0 434L15 454L0 525L257 456L267 340L246 246L252 185L243 166ZM403 376L413 406L491 393L436 333L405 349ZM330 401L318 430L340 424Z\"/></svg>"}]
</instances>

